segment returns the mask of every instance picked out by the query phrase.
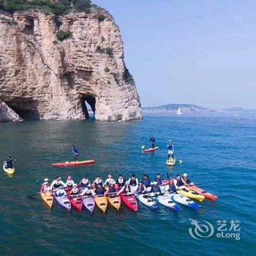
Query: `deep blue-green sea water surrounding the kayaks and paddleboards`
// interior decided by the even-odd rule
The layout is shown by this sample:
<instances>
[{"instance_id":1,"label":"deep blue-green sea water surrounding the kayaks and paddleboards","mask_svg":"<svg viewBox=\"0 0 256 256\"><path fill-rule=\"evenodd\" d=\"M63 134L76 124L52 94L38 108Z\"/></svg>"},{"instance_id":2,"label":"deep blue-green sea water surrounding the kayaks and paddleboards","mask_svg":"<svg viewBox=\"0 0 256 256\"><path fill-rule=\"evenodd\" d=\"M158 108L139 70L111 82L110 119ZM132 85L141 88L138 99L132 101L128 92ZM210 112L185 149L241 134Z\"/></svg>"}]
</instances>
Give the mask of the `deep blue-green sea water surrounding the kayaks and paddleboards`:
<instances>
[{"instance_id":1,"label":"deep blue-green sea water surrounding the kayaks and paddleboards","mask_svg":"<svg viewBox=\"0 0 256 256\"><path fill-rule=\"evenodd\" d=\"M140 146L154 135L160 147L141 154ZM175 142L183 165L165 165L166 142ZM51 167L72 159L71 146L81 159L96 159L90 167ZM148 145L148 144L146 144ZM0 160L17 160L17 173L1 171L1 255L252 255L255 252L256 116L146 116L143 121L25 121L0 124ZM151 178L188 173L192 181L219 196L206 200L200 211L181 206L179 214L139 203L134 214L122 207L70 213L55 203L50 211L39 196L43 178L70 174L75 181L87 174L132 173ZM214 235L197 240L189 235L189 219L210 222ZM217 238L217 221L238 220L240 240ZM206 222L204 222L206 223ZM230 227L230 223L227 224Z\"/></svg>"}]
</instances>

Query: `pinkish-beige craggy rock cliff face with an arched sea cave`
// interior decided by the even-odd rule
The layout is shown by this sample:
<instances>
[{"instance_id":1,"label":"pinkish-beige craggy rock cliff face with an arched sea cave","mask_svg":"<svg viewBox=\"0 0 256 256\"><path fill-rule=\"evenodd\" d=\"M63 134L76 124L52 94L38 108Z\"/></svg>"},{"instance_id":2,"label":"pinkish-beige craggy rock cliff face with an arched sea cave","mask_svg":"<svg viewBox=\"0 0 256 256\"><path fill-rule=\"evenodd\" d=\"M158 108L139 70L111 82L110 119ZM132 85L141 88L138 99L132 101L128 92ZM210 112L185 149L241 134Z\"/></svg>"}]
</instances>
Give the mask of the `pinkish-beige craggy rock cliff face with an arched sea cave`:
<instances>
[{"instance_id":1,"label":"pinkish-beige craggy rock cliff face with an arched sea cave","mask_svg":"<svg viewBox=\"0 0 256 256\"><path fill-rule=\"evenodd\" d=\"M142 118L118 26L86 13L0 13L0 99L21 118ZM59 31L72 36L61 41Z\"/></svg>"}]
</instances>

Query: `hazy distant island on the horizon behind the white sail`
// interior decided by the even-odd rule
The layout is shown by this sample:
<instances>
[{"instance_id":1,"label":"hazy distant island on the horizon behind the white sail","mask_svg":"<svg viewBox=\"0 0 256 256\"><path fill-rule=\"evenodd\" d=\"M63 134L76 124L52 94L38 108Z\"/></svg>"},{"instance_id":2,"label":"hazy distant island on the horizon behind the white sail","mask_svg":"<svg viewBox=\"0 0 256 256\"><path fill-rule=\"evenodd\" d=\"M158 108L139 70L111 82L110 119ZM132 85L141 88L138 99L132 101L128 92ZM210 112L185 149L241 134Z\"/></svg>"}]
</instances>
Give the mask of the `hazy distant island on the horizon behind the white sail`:
<instances>
[{"instance_id":1,"label":"hazy distant island on the horizon behind the white sail","mask_svg":"<svg viewBox=\"0 0 256 256\"><path fill-rule=\"evenodd\" d=\"M157 107L142 108L144 113L155 113L155 112L170 112L170 113L195 113L195 112L214 112L209 108L203 108L197 105L191 104L167 104Z\"/></svg>"}]
</instances>

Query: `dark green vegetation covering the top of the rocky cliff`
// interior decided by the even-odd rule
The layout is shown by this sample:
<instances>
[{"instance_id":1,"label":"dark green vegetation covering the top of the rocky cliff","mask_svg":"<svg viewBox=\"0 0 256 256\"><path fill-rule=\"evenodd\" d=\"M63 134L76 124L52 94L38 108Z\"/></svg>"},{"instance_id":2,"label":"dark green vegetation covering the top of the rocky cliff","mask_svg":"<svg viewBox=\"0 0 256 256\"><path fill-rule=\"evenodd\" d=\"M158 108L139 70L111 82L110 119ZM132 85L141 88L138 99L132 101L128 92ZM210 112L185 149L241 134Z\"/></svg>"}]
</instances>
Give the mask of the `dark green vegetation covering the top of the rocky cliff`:
<instances>
[{"instance_id":1,"label":"dark green vegetation covering the top of the rocky cliff","mask_svg":"<svg viewBox=\"0 0 256 256\"><path fill-rule=\"evenodd\" d=\"M39 10L46 14L55 13L64 15L68 12L86 12L91 11L91 0L0 0L0 10L7 12Z\"/></svg>"}]
</instances>

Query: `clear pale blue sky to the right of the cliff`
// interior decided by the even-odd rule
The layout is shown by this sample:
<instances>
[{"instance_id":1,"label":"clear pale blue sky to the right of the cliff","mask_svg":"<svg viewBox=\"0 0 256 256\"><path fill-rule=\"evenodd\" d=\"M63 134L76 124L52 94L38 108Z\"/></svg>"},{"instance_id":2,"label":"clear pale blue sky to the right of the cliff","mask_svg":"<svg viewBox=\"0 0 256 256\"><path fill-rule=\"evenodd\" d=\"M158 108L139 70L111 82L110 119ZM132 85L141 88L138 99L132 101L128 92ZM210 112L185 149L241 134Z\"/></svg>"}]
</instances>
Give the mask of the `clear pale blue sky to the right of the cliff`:
<instances>
[{"instance_id":1,"label":"clear pale blue sky to the right of the cliff","mask_svg":"<svg viewBox=\"0 0 256 256\"><path fill-rule=\"evenodd\" d=\"M256 108L256 1L93 2L121 29L143 107Z\"/></svg>"}]
</instances>

